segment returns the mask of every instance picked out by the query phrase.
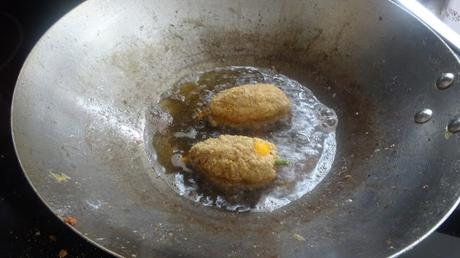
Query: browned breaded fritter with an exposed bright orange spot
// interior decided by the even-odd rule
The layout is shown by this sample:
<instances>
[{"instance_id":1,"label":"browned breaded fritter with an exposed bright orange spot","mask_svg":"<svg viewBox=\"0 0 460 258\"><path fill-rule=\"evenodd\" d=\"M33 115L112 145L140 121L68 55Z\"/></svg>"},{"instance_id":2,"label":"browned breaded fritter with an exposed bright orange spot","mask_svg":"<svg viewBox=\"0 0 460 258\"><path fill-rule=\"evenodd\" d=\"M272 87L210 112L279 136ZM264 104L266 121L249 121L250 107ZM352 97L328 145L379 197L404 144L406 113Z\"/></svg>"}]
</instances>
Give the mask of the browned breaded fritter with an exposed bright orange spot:
<instances>
[{"instance_id":1,"label":"browned breaded fritter with an exposed bright orange spot","mask_svg":"<svg viewBox=\"0 0 460 258\"><path fill-rule=\"evenodd\" d=\"M260 138L221 135L192 146L192 167L220 187L257 188L276 178L276 146Z\"/></svg>"}]
</instances>

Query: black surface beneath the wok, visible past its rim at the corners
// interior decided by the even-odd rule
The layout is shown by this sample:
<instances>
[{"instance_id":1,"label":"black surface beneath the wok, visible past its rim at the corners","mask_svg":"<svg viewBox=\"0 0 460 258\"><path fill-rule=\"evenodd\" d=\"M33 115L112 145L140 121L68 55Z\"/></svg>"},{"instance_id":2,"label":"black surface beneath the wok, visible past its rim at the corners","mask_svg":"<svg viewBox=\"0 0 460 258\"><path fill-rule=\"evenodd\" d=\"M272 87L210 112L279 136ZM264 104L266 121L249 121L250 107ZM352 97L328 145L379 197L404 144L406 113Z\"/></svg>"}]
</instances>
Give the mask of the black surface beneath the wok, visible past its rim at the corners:
<instances>
[{"instance_id":1,"label":"black surface beneath the wok, visible past its rim at the corners","mask_svg":"<svg viewBox=\"0 0 460 258\"><path fill-rule=\"evenodd\" d=\"M112 257L80 238L38 199L10 135L10 105L21 66L40 36L81 0L0 0L0 257ZM405 257L460 257L460 212ZM445 235L449 234L449 235ZM453 236L453 237L452 237ZM458 246L455 250L454 246ZM443 250L447 255L443 255Z\"/></svg>"}]
</instances>

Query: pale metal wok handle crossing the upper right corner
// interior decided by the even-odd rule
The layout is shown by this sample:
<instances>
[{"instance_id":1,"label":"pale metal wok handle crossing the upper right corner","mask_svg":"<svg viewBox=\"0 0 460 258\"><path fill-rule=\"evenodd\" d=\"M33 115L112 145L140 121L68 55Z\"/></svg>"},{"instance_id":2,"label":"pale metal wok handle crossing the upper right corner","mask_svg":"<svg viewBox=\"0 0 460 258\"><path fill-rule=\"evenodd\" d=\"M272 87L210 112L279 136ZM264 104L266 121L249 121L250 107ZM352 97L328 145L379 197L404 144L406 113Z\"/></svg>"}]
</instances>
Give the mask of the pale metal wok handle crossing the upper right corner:
<instances>
[{"instance_id":1,"label":"pale metal wok handle crossing the upper right corner","mask_svg":"<svg viewBox=\"0 0 460 258\"><path fill-rule=\"evenodd\" d=\"M460 56L460 35L415 0L390 0L424 23Z\"/></svg>"}]
</instances>

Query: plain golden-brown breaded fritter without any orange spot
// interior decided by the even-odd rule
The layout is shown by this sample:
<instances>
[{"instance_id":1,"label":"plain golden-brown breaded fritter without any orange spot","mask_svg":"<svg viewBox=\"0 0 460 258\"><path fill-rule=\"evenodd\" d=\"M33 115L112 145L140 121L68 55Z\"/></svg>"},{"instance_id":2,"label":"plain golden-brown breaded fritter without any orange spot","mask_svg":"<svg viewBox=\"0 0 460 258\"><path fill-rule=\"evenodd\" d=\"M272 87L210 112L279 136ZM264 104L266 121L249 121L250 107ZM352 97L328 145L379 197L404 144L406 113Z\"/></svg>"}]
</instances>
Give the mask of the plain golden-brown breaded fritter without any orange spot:
<instances>
[{"instance_id":1,"label":"plain golden-brown breaded fritter without any orange spot","mask_svg":"<svg viewBox=\"0 0 460 258\"><path fill-rule=\"evenodd\" d=\"M223 90L209 103L208 118L213 126L259 127L276 122L289 113L290 101L273 84L246 84Z\"/></svg>"}]
</instances>

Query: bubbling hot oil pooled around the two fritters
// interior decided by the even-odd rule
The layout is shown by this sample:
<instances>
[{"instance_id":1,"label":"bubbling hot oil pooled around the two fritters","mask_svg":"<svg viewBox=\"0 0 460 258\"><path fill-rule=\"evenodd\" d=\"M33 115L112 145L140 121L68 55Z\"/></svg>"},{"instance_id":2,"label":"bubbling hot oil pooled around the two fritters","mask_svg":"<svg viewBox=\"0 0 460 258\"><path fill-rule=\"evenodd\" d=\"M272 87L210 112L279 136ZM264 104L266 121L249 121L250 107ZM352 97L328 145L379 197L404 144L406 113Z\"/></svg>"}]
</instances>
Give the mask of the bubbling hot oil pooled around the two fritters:
<instances>
[{"instance_id":1,"label":"bubbling hot oil pooled around the two fritters","mask_svg":"<svg viewBox=\"0 0 460 258\"><path fill-rule=\"evenodd\" d=\"M206 106L212 96L231 87L272 83L290 98L291 115L266 128L212 127ZM335 155L335 112L321 104L298 82L253 67L227 67L197 73L179 80L152 108L147 137L151 137L152 162L157 173L181 196L204 206L231 211L270 211L300 198L327 174ZM168 117L170 121L165 123ZM197 142L221 134L260 137L274 143L290 161L278 169L275 182L256 191L215 188L185 166L182 157ZM159 166L158 166L159 163Z\"/></svg>"}]
</instances>

